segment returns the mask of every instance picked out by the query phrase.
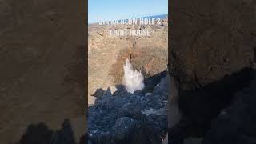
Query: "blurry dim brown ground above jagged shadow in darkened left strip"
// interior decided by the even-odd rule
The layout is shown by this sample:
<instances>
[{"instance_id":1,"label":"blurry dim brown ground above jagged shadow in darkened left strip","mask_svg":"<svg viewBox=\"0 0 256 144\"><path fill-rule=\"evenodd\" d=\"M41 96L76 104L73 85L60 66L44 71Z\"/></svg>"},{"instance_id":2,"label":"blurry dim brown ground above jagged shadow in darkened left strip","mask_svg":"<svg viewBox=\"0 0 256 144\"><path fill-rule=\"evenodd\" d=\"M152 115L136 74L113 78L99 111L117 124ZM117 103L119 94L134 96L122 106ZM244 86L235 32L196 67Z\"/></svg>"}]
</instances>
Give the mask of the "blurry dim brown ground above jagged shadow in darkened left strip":
<instances>
[{"instance_id":1,"label":"blurry dim brown ground above jagged shadow in darkened left strip","mask_svg":"<svg viewBox=\"0 0 256 144\"><path fill-rule=\"evenodd\" d=\"M85 134L85 37L82 1L0 0L0 143L27 126L58 130L69 119Z\"/></svg>"}]
</instances>

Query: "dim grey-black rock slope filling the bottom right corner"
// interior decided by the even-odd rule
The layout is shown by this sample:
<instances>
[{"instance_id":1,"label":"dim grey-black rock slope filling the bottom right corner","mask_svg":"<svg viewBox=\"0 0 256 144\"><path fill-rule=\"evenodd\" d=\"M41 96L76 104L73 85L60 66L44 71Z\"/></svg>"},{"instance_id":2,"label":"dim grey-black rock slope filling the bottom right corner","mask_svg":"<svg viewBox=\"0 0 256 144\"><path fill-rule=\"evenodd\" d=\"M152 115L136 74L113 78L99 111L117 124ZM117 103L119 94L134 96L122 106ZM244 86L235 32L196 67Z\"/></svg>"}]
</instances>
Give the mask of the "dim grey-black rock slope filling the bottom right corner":
<instances>
[{"instance_id":1,"label":"dim grey-black rock slope filling the bottom right corner","mask_svg":"<svg viewBox=\"0 0 256 144\"><path fill-rule=\"evenodd\" d=\"M256 143L256 82L235 95L234 102L212 122L202 144Z\"/></svg>"}]
</instances>

